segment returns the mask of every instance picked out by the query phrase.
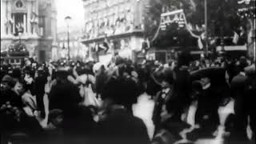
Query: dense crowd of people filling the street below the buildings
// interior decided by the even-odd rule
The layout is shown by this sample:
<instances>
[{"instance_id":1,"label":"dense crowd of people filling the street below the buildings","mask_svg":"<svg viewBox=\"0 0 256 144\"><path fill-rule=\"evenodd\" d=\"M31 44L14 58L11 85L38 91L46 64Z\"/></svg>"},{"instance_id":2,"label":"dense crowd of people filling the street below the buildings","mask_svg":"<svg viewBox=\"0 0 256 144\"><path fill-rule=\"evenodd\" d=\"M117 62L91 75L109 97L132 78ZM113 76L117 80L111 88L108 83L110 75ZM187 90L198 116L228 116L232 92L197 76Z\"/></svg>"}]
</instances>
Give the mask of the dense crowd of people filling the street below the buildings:
<instances>
[{"instance_id":1,"label":"dense crowd of people filling the street below the buildings","mask_svg":"<svg viewBox=\"0 0 256 144\"><path fill-rule=\"evenodd\" d=\"M214 138L225 127L225 142L255 138L256 74L242 57L192 61L184 52L162 64L136 64L116 58L107 66L58 61L22 66L1 65L0 134L2 143L170 144L184 139ZM133 105L142 94L154 101L150 138ZM219 106L234 100L234 114L221 122ZM188 122L190 106L194 122ZM247 127L252 137L247 136ZM187 143L189 143L187 142ZM255 141L254 141L255 142Z\"/></svg>"}]
</instances>

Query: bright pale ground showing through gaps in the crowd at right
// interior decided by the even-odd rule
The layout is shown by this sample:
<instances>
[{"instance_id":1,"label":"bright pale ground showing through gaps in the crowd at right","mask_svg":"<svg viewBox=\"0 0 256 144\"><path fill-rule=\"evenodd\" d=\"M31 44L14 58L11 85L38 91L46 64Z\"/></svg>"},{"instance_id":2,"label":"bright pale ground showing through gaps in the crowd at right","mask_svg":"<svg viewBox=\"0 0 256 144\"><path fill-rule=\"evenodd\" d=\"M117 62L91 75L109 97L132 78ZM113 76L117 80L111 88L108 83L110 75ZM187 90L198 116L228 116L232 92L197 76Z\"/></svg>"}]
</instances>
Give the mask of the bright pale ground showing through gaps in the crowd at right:
<instances>
[{"instance_id":1,"label":"bright pale ground showing through gaps in the crowd at right","mask_svg":"<svg viewBox=\"0 0 256 144\"><path fill-rule=\"evenodd\" d=\"M138 98L138 103L133 106L134 115L138 118L142 118L143 122L145 122L148 134L150 138L153 137L154 134L154 124L151 120L153 109L154 109L154 101L150 99L150 96L147 94L142 94ZM190 112L188 114L187 122L194 125L194 113L196 110L196 106L190 106ZM220 118L220 126L218 126L218 130L215 131L213 139L198 139L196 144L223 144L223 135L226 134L224 128L224 122L228 116L228 114L234 113L234 101L231 100L226 106L220 106L218 109L218 114ZM248 129L248 135L250 138L250 129ZM182 142L186 142L186 139L183 139ZM177 142L178 144L178 142Z\"/></svg>"}]
</instances>

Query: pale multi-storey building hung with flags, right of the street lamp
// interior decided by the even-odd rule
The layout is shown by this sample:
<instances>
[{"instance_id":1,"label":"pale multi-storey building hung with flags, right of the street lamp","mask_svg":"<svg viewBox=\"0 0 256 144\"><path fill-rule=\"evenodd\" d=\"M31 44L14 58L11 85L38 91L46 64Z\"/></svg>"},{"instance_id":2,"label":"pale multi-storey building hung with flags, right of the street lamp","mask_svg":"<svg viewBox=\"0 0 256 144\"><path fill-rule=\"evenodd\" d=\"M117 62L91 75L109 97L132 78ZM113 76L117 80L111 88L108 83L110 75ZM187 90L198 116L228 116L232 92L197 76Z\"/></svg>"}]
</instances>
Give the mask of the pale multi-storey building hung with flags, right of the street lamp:
<instances>
[{"instance_id":1,"label":"pale multi-storey building hung with flags, right of the street lamp","mask_svg":"<svg viewBox=\"0 0 256 144\"><path fill-rule=\"evenodd\" d=\"M134 59L142 49L143 8L147 0L83 0L85 25L82 43L94 58L94 47L108 40L109 54ZM101 54L97 54L101 57ZM102 54L102 57L106 54ZM101 59L101 58L98 58Z\"/></svg>"}]
</instances>

